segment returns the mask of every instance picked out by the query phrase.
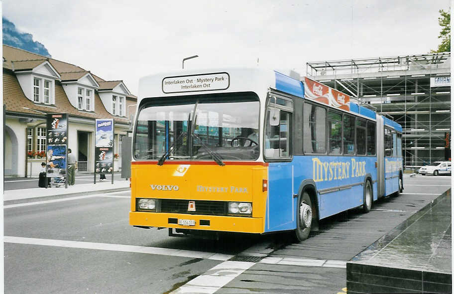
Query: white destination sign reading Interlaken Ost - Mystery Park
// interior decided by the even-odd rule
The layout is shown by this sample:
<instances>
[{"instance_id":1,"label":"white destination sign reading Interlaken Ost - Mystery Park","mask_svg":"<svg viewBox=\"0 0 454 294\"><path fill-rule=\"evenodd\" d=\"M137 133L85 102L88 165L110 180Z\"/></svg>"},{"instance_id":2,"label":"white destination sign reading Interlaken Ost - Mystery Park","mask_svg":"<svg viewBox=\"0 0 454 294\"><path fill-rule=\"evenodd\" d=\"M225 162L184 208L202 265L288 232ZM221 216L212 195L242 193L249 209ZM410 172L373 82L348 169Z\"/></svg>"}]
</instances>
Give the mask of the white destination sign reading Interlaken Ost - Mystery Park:
<instances>
[{"instance_id":1,"label":"white destination sign reading Interlaken Ost - Mystery Park","mask_svg":"<svg viewBox=\"0 0 454 294\"><path fill-rule=\"evenodd\" d=\"M181 93L226 90L229 84L230 79L226 72L204 75L167 77L162 80L162 92Z\"/></svg>"}]
</instances>

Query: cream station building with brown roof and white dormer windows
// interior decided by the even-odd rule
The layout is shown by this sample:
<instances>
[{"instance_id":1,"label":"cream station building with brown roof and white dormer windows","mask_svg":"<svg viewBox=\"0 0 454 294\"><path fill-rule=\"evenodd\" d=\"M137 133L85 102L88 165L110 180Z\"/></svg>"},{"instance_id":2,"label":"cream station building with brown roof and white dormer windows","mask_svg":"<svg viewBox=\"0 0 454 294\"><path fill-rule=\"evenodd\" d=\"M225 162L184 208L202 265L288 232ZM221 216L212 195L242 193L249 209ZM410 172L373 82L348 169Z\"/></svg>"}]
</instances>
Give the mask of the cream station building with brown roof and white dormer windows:
<instances>
[{"instance_id":1,"label":"cream station building with brown roof and white dormer windows","mask_svg":"<svg viewBox=\"0 0 454 294\"><path fill-rule=\"evenodd\" d=\"M46 114L68 113L68 147L79 171L93 172L95 119L114 119L114 170L137 97L77 65L3 45L4 175L36 176L46 150Z\"/></svg>"}]
</instances>

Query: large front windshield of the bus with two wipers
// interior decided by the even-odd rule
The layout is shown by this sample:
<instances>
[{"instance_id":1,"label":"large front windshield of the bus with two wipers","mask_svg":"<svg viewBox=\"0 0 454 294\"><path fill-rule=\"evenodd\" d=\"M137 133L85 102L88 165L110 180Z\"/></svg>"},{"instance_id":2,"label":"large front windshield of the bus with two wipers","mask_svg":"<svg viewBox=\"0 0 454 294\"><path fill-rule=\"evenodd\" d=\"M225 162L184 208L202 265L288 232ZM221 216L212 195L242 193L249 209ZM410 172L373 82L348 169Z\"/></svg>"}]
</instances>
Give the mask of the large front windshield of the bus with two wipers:
<instances>
[{"instance_id":1,"label":"large front windshield of the bus with two wipers","mask_svg":"<svg viewBox=\"0 0 454 294\"><path fill-rule=\"evenodd\" d=\"M153 98L139 110L133 154L139 160L166 152L166 160L212 160L213 153L222 160L254 160L258 130L253 93Z\"/></svg>"}]
</instances>

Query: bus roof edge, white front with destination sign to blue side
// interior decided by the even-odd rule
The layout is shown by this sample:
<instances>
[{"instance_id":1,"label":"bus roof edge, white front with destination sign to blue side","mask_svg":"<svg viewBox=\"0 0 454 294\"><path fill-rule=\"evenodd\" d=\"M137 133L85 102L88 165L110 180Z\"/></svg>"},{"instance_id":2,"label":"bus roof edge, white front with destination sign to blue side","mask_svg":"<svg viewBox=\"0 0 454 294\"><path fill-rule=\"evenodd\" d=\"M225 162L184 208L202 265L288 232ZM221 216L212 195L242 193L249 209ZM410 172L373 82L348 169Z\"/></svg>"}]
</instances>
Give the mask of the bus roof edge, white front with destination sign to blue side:
<instances>
[{"instance_id":1,"label":"bus roof edge, white front with destination sign to blue side","mask_svg":"<svg viewBox=\"0 0 454 294\"><path fill-rule=\"evenodd\" d=\"M138 104L143 98L225 92L255 92L266 97L275 89L302 99L316 101L335 109L376 119L376 113L350 101L350 96L304 77L296 80L278 71L262 68L213 68L166 72L143 77L139 81ZM384 118L385 124L402 132L402 127Z\"/></svg>"}]
</instances>

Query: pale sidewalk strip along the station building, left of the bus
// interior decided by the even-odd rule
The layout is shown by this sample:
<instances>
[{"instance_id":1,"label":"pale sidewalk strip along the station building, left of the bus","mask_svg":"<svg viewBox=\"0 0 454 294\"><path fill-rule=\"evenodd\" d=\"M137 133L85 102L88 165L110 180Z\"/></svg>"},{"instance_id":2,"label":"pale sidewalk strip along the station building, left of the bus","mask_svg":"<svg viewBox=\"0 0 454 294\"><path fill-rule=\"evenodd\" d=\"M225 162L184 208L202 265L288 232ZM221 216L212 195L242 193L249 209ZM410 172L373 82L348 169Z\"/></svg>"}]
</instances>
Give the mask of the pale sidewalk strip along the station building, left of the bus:
<instances>
[{"instance_id":1,"label":"pale sidewalk strip along the station building, left of the bus","mask_svg":"<svg viewBox=\"0 0 454 294\"><path fill-rule=\"evenodd\" d=\"M47 197L47 196L76 196L76 195L88 195L95 193L108 193L115 191L127 191L129 190L129 181L116 180L114 184L109 182L98 182L96 184L77 184L68 186L65 189L65 185L58 188L28 188L28 189L16 189L16 190L5 190L3 192L3 201L8 200L19 200L27 198Z\"/></svg>"}]
</instances>

